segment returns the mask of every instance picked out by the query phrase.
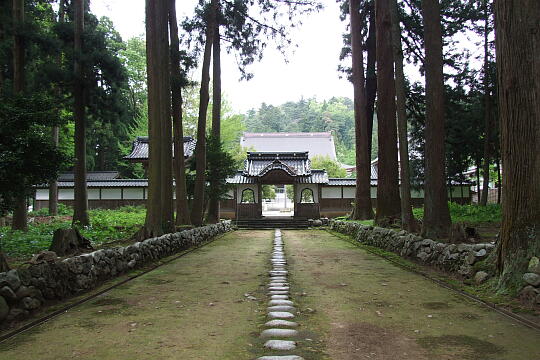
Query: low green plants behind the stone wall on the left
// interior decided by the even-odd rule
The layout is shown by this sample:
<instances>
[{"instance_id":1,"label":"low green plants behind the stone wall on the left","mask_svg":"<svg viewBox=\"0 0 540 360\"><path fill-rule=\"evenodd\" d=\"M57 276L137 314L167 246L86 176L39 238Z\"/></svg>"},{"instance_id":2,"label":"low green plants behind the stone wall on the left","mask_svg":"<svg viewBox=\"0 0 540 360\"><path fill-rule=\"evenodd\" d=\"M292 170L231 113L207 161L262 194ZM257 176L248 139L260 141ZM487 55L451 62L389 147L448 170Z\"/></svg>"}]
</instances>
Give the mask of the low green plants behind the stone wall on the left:
<instances>
[{"instance_id":1,"label":"low green plants behind the stone wall on the left","mask_svg":"<svg viewBox=\"0 0 540 360\"><path fill-rule=\"evenodd\" d=\"M69 208L59 209L59 213L70 215ZM29 216L46 214L40 210ZM94 247L131 237L143 224L146 215L144 207L126 206L116 210L90 210L90 226L80 229L81 234L90 239ZM10 258L24 259L47 250L56 229L69 228L71 219L67 216L55 217L49 223L30 223L28 232L12 231L0 227L0 247Z\"/></svg>"}]
</instances>

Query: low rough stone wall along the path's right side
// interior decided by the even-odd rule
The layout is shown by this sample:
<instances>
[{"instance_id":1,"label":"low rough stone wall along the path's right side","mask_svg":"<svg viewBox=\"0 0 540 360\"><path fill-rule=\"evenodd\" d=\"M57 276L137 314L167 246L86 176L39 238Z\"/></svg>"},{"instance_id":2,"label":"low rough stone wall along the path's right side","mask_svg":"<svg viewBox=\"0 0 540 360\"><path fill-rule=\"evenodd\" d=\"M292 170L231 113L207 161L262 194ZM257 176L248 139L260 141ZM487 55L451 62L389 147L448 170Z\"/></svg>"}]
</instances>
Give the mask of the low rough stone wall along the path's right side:
<instances>
[{"instance_id":1,"label":"low rough stone wall along the path's right side","mask_svg":"<svg viewBox=\"0 0 540 360\"><path fill-rule=\"evenodd\" d=\"M446 271L457 272L465 277L473 276L474 263L485 259L495 249L495 245L491 243L448 244L424 239L405 230L362 225L352 221L332 220L330 228L350 235L362 244L413 258ZM486 274L486 278L487 276Z\"/></svg>"}]
</instances>

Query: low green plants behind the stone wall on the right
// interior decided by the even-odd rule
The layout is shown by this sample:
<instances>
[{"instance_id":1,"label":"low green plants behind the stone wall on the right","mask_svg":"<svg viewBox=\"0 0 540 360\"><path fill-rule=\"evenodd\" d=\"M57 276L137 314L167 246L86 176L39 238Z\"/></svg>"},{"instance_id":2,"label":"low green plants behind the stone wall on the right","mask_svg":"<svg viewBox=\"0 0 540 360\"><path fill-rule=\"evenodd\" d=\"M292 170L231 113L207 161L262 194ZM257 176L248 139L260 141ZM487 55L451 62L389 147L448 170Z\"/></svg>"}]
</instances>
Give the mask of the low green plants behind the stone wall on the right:
<instances>
[{"instance_id":1,"label":"low green plants behind the stone wall on the right","mask_svg":"<svg viewBox=\"0 0 540 360\"><path fill-rule=\"evenodd\" d=\"M488 204L487 206L460 205L453 202L448 203L452 222L467 224L478 223L498 223L502 219L502 207L500 204ZM413 214L417 219L424 217L423 208L413 209Z\"/></svg>"}]
</instances>

